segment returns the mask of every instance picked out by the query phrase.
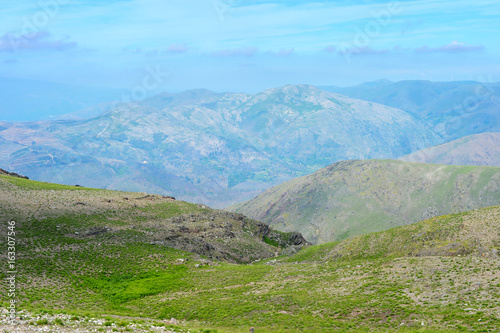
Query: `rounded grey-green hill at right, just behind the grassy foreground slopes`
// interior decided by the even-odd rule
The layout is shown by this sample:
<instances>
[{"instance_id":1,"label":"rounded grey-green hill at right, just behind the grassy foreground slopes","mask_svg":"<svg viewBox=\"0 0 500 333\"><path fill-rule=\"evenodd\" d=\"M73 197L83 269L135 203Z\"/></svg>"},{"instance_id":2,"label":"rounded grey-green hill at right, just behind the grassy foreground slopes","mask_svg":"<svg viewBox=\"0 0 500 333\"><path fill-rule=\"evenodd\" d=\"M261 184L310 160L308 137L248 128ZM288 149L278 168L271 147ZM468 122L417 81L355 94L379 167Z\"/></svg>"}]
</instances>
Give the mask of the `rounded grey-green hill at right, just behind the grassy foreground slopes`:
<instances>
[{"instance_id":1,"label":"rounded grey-green hill at right, just behind the grassy foreground slopes","mask_svg":"<svg viewBox=\"0 0 500 333\"><path fill-rule=\"evenodd\" d=\"M500 168L343 161L229 207L314 244L500 204Z\"/></svg>"}]
</instances>

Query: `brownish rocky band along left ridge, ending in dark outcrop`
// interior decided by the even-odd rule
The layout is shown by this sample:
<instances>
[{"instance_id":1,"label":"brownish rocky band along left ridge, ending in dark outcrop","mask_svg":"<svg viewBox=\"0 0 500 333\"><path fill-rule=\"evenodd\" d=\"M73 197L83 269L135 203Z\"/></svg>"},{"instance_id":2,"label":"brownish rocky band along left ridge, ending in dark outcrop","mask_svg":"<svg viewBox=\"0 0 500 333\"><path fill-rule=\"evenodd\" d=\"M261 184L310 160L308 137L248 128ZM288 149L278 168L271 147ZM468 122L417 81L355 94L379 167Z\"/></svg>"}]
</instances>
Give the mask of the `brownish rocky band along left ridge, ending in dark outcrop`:
<instances>
[{"instance_id":1,"label":"brownish rocky band along left ridge, ending in dark outcrop","mask_svg":"<svg viewBox=\"0 0 500 333\"><path fill-rule=\"evenodd\" d=\"M0 197L0 207L5 204L17 211L13 219L31 216L25 207L34 209L40 216L37 219L74 216L73 224L58 222L59 227L54 225L54 230L68 237L100 243L99 246L139 242L173 247L212 260L248 263L274 257L290 246L307 244L298 234L277 232L242 214L165 199L161 195L127 193L124 197L124 193L114 191L60 188L49 190L47 195L45 187L37 190L36 186L29 191L21 187L16 191L24 192L15 201L9 195ZM40 203L43 203L41 207ZM172 216L176 211L184 214ZM165 213L172 217L164 218ZM85 221L80 221L80 216L86 216Z\"/></svg>"}]
</instances>

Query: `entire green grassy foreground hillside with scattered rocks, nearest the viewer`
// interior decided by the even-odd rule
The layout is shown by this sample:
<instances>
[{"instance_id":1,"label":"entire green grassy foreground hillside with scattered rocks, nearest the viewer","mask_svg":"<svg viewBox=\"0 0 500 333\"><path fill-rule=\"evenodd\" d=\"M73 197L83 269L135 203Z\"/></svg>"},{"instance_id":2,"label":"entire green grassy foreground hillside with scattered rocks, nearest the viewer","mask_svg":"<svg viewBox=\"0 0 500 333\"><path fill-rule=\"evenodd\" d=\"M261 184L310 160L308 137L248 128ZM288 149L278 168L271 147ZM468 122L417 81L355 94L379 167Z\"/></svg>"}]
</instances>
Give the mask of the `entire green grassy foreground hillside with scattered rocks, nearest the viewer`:
<instances>
[{"instance_id":1,"label":"entire green grassy foreground hillside with scattered rocks, nearest the viewer","mask_svg":"<svg viewBox=\"0 0 500 333\"><path fill-rule=\"evenodd\" d=\"M173 198L0 173L0 237L11 233L16 256L7 259L4 241L0 258L17 271L11 321L14 273L0 268L4 330L479 332L500 325L500 206L308 247L292 245L301 242L297 234Z\"/></svg>"}]
</instances>

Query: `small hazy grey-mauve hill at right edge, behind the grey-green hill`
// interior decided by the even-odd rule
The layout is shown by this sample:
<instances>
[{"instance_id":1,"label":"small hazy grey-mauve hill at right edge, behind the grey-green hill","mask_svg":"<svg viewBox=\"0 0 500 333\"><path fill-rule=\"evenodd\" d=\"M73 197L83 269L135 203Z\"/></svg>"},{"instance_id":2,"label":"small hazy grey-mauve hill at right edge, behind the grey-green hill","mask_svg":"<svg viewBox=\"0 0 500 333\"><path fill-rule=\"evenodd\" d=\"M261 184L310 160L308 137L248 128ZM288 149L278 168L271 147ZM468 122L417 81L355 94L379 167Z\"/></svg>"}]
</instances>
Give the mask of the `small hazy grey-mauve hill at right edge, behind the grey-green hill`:
<instances>
[{"instance_id":1,"label":"small hazy grey-mauve hill at right edge, behind the grey-green hill","mask_svg":"<svg viewBox=\"0 0 500 333\"><path fill-rule=\"evenodd\" d=\"M500 166L500 133L480 133L400 158L408 162Z\"/></svg>"}]
</instances>

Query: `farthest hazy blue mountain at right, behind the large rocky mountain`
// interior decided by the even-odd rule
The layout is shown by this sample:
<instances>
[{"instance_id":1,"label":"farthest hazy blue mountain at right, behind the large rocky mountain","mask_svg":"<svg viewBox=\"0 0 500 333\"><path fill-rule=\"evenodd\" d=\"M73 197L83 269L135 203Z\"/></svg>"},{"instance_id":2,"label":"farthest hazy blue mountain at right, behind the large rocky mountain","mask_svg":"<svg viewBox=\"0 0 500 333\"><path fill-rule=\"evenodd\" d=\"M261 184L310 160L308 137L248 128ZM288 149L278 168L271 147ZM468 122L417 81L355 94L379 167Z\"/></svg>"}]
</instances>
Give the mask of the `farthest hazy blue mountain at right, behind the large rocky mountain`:
<instances>
[{"instance_id":1,"label":"farthest hazy blue mountain at right, behind the large rocky mountain","mask_svg":"<svg viewBox=\"0 0 500 333\"><path fill-rule=\"evenodd\" d=\"M379 80L322 89L408 111L445 142L500 132L500 83Z\"/></svg>"}]
</instances>

